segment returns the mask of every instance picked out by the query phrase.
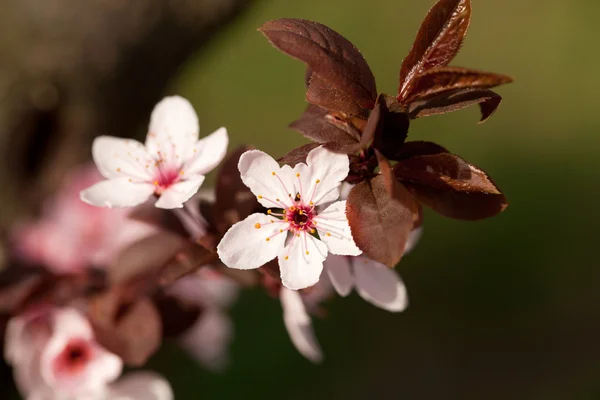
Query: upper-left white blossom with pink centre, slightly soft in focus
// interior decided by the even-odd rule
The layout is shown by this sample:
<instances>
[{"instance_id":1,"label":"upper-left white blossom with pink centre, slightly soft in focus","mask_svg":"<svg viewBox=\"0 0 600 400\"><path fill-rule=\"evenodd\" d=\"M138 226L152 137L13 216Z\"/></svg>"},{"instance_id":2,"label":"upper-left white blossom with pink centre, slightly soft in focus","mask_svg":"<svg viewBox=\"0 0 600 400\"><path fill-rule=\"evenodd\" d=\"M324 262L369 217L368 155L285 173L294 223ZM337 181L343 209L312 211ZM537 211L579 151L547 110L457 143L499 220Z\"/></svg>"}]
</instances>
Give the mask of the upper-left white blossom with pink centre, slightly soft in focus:
<instances>
[{"instance_id":1,"label":"upper-left white blossom with pink centre, slightly soft in focus","mask_svg":"<svg viewBox=\"0 0 600 400\"><path fill-rule=\"evenodd\" d=\"M225 128L200 140L199 131L189 101L164 98L152 112L145 144L96 138L92 155L106 180L81 192L81 199L99 207L133 207L155 195L156 207L181 208L227 151Z\"/></svg>"}]
</instances>

